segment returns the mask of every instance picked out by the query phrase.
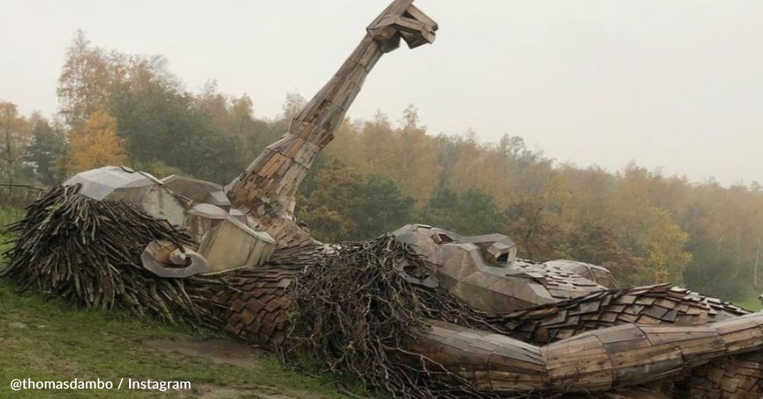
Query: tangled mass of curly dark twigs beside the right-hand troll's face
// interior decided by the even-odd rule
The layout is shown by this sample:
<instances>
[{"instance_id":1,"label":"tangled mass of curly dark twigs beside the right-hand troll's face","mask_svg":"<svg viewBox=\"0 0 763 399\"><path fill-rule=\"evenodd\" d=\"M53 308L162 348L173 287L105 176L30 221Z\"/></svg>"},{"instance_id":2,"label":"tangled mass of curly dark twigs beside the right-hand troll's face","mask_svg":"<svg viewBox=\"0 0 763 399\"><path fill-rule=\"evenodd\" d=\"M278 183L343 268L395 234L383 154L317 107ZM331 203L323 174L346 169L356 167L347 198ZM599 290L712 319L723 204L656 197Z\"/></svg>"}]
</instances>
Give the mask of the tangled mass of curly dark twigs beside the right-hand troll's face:
<instances>
[{"instance_id":1,"label":"tangled mass of curly dark twigs beside the right-hand troll's face","mask_svg":"<svg viewBox=\"0 0 763 399\"><path fill-rule=\"evenodd\" d=\"M489 330L487 314L474 311L440 289L410 284L395 270L430 273L406 244L391 235L344 243L322 257L293 286L295 313L285 358L360 378L392 397L495 397L436 362L406 350L427 327L426 319Z\"/></svg>"}]
</instances>

